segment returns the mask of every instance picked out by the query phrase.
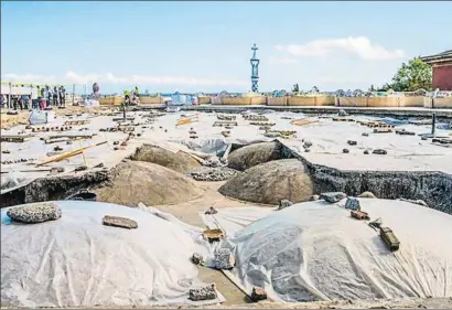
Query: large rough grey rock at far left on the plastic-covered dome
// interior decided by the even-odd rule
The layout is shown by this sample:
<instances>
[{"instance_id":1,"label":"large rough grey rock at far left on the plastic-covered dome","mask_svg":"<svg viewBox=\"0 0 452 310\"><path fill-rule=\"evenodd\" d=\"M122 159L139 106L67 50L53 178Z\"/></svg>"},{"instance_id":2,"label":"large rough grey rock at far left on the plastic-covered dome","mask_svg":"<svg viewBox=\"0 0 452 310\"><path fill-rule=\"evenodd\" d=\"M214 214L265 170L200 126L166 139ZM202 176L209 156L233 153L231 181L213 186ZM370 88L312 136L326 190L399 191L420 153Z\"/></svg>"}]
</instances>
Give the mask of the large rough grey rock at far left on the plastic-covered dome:
<instances>
[{"instance_id":1,"label":"large rough grey rock at far left on the plastic-covered dome","mask_svg":"<svg viewBox=\"0 0 452 310\"><path fill-rule=\"evenodd\" d=\"M32 224L58 220L62 211L55 203L44 202L11 207L7 215L15 222Z\"/></svg>"}]
</instances>

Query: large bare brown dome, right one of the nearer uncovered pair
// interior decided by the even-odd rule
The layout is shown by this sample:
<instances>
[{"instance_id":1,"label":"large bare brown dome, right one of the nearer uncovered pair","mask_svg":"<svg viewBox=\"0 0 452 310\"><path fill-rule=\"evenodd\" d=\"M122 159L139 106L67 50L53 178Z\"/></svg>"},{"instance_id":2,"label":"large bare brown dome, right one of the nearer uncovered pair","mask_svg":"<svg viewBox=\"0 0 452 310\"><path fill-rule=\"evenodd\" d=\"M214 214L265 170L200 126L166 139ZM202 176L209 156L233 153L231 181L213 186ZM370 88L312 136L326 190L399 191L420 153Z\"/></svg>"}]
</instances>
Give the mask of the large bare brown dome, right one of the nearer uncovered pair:
<instances>
[{"instance_id":1,"label":"large bare brown dome, right one of the nearer uncovered pair","mask_svg":"<svg viewBox=\"0 0 452 310\"><path fill-rule=\"evenodd\" d=\"M219 192L255 203L278 204L283 199L298 203L310 200L313 182L301 161L282 159L237 174L219 188Z\"/></svg>"}]
</instances>

